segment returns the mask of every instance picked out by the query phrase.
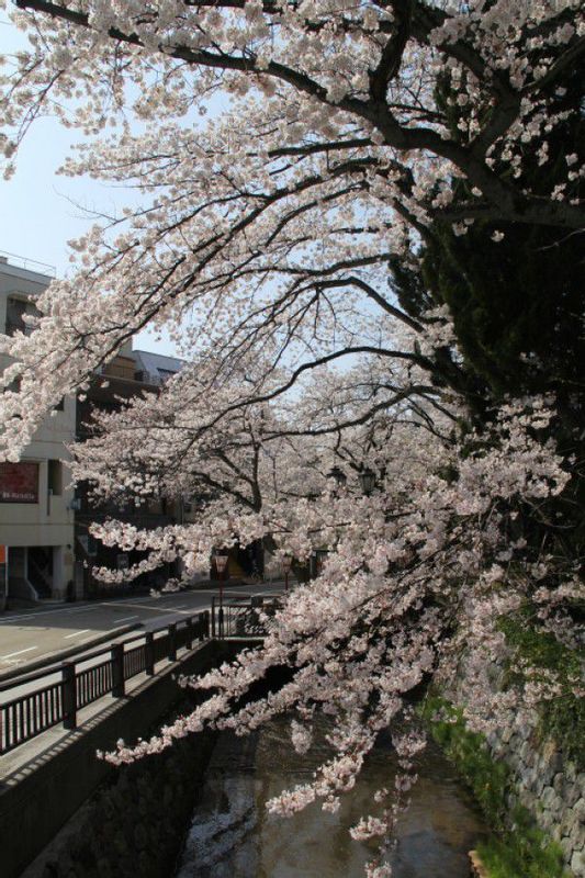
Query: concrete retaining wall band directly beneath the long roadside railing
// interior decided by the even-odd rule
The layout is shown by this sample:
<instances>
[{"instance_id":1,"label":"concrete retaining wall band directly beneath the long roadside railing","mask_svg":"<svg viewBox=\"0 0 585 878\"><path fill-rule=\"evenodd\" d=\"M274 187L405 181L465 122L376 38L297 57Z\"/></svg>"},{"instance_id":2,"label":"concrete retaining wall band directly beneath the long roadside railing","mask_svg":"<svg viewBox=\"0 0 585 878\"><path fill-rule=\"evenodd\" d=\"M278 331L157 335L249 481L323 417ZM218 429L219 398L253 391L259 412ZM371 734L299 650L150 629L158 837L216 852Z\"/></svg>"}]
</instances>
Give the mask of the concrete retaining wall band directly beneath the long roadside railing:
<instances>
[{"instance_id":1,"label":"concrete retaining wall band directly beneath the long roadside railing","mask_svg":"<svg viewBox=\"0 0 585 878\"><path fill-rule=\"evenodd\" d=\"M20 878L101 784L120 779L117 769L95 757L97 751L113 750L120 738L135 741L158 728L183 695L177 674L204 673L243 645L203 642L156 677L137 678L130 695L106 701L87 720L81 717L74 731L49 730L15 751L18 765L0 778L2 878ZM4 759L9 757L12 754ZM47 873L60 874L72 878L69 873ZM88 875L81 871L82 878ZM113 875L119 878L120 873Z\"/></svg>"}]
</instances>

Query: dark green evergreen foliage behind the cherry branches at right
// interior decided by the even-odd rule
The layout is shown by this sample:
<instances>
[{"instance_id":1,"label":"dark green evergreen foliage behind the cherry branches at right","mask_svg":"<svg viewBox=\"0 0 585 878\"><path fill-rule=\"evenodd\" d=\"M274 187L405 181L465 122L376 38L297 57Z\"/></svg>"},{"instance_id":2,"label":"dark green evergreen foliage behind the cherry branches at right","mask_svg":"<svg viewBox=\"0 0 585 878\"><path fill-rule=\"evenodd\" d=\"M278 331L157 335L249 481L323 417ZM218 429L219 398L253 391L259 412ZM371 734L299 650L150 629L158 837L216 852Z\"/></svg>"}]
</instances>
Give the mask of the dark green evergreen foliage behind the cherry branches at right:
<instances>
[{"instance_id":1,"label":"dark green evergreen foliage behind the cherry branches at right","mask_svg":"<svg viewBox=\"0 0 585 878\"><path fill-rule=\"evenodd\" d=\"M565 88L550 94L551 116L562 116L547 139L545 154L522 157L522 179L535 189L569 184L573 199L582 198L583 179L565 179L565 156L585 151L585 66L567 78ZM437 100L450 120L454 137L464 138L458 127L463 112L452 95L448 74L437 86ZM502 156L496 159L503 172ZM505 164L505 162L504 162ZM543 181L547 169L547 183ZM514 171L513 171L514 173ZM451 204L464 205L470 185L459 181ZM453 235L451 225L437 219L425 237L420 264L416 270L398 259L391 261L393 282L400 302L413 317L432 306L448 305L452 315L463 369L443 368L435 379L465 395L476 421L492 416L486 398L521 393L554 393L558 419L553 432L566 455L585 458L582 432L585 336L575 316L583 312L583 241L580 235L559 238L545 225L473 222L463 235ZM449 364L450 365L450 364ZM577 403L577 399L581 399ZM551 528L535 529L532 510L526 510L531 539L554 541L554 551L581 554L585 545L585 487L582 479L573 485L548 520ZM567 543L572 543L569 548Z\"/></svg>"}]
</instances>

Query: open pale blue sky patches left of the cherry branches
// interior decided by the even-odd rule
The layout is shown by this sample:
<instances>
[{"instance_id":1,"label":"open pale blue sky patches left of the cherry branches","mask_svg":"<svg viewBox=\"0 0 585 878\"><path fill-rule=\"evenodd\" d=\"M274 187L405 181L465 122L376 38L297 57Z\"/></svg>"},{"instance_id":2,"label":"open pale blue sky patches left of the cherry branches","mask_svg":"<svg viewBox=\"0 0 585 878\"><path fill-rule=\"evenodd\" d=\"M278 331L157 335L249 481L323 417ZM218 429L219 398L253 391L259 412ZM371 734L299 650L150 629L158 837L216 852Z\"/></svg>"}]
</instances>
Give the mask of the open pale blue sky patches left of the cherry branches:
<instances>
[{"instance_id":1,"label":"open pale blue sky patches left of the cherry branches","mask_svg":"<svg viewBox=\"0 0 585 878\"><path fill-rule=\"evenodd\" d=\"M23 45L23 35L0 13L0 55ZM42 119L25 138L9 181L0 177L0 252L37 260L64 275L70 267L67 241L91 224L85 211L113 213L132 195L90 179L56 175L78 132L63 128L54 119ZM9 257L10 258L10 257ZM32 263L31 268L35 268ZM147 333L136 348L173 353L168 341L155 341Z\"/></svg>"}]
</instances>

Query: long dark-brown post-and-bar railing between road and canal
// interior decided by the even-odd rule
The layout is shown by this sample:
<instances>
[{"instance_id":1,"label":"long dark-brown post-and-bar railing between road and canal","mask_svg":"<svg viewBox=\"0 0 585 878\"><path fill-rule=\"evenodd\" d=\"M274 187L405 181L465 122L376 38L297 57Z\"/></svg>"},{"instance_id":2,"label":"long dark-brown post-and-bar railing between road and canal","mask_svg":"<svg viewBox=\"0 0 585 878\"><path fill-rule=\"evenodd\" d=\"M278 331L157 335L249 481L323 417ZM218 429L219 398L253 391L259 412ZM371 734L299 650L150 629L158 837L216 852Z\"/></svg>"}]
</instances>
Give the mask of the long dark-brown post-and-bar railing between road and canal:
<instances>
[{"instance_id":1,"label":"long dark-brown post-and-bar railing between road and canal","mask_svg":"<svg viewBox=\"0 0 585 878\"><path fill-rule=\"evenodd\" d=\"M207 640L209 637L210 614L205 610L184 621L143 631L105 649L86 653L75 661L55 664L0 685L1 694L21 689L36 680L46 680L41 688L0 705L0 755L59 722L65 729L76 729L78 710L108 693L114 698L122 698L126 680L143 672L153 676L158 662L165 658L175 662L179 649L190 650L193 641ZM144 643L126 649L139 640ZM94 662L97 658L103 661ZM80 667L88 662L94 664ZM56 675L58 679L49 679Z\"/></svg>"}]
</instances>

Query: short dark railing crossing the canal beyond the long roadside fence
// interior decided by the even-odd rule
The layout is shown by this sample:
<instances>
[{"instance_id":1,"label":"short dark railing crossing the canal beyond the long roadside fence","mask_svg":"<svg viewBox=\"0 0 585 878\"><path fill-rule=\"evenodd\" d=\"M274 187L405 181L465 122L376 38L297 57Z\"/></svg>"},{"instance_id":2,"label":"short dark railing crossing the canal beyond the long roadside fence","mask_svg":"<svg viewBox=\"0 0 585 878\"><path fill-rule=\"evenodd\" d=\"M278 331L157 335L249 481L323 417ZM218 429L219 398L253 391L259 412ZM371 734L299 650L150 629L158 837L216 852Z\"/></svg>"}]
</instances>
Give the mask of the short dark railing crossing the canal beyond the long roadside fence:
<instances>
[{"instance_id":1,"label":"short dark railing crossing the canal beyond the long roadside fence","mask_svg":"<svg viewBox=\"0 0 585 878\"><path fill-rule=\"evenodd\" d=\"M263 617L273 616L281 606L282 595L265 594L214 596L211 606L212 638L246 638L261 640L266 635Z\"/></svg>"}]
</instances>

